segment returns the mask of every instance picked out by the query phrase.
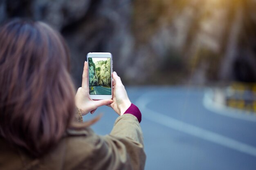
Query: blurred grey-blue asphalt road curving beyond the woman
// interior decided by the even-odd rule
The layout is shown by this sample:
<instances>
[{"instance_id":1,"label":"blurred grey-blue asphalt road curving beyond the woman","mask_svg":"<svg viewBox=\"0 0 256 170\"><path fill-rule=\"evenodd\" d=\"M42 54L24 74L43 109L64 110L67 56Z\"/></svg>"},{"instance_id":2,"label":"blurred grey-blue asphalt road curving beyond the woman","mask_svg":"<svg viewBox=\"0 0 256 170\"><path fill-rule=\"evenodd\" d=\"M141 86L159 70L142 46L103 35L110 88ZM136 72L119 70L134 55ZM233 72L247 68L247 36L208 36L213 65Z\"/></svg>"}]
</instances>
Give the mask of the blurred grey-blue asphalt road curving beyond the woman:
<instances>
[{"instance_id":1,"label":"blurred grey-blue asphalt road curving beyond the woman","mask_svg":"<svg viewBox=\"0 0 256 170\"><path fill-rule=\"evenodd\" d=\"M256 170L256 114L236 117L230 110L220 114L205 101L204 88L126 90L142 113L145 170ZM118 115L103 106L84 119L99 113L103 117L92 128L100 135L109 134Z\"/></svg>"}]
</instances>

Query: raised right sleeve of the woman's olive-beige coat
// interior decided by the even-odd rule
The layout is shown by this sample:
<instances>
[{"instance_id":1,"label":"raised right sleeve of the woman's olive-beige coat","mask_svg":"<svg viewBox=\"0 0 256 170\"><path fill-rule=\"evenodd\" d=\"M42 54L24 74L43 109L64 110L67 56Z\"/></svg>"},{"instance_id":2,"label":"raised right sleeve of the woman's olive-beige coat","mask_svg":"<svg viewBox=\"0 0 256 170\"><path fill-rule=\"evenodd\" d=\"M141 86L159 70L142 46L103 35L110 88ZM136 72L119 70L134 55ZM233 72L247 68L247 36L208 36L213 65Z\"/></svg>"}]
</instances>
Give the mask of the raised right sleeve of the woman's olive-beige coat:
<instances>
[{"instance_id":1,"label":"raised right sleeve of the woman's olive-beige coat","mask_svg":"<svg viewBox=\"0 0 256 170\"><path fill-rule=\"evenodd\" d=\"M90 161L94 170L144 169L143 136L135 116L118 117L110 135L97 137Z\"/></svg>"}]
</instances>

